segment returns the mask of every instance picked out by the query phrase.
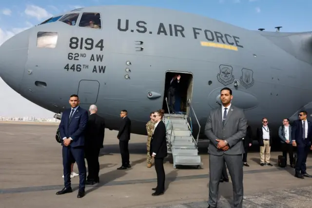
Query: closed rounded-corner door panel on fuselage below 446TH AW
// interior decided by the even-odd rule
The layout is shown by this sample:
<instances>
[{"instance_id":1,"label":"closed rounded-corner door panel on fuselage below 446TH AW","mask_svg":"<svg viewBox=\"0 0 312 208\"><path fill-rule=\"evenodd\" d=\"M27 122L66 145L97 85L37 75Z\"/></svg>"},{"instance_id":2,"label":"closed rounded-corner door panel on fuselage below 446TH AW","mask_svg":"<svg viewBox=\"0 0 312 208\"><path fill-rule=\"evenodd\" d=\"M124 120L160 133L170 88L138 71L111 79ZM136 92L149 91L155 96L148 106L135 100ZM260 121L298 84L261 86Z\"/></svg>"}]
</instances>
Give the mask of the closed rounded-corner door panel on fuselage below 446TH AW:
<instances>
[{"instance_id":1,"label":"closed rounded-corner door panel on fuselage below 446TH AW","mask_svg":"<svg viewBox=\"0 0 312 208\"><path fill-rule=\"evenodd\" d=\"M98 100L99 82L96 80L80 80L78 96L80 104L96 104Z\"/></svg>"}]
</instances>

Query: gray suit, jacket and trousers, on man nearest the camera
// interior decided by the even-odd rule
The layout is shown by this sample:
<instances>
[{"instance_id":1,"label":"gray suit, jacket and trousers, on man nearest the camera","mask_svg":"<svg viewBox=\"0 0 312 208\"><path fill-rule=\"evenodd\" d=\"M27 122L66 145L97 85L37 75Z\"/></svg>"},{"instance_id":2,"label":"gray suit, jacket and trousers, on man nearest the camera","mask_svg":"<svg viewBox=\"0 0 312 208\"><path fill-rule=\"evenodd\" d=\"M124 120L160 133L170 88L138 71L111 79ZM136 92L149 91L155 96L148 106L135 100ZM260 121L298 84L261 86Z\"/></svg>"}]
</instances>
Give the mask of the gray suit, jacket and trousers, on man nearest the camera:
<instances>
[{"instance_id":1,"label":"gray suit, jacket and trousers, on man nearest the camera","mask_svg":"<svg viewBox=\"0 0 312 208\"><path fill-rule=\"evenodd\" d=\"M246 136L247 119L244 111L231 105L227 117L222 124L222 108L210 112L205 126L205 135L208 137L209 148L209 201L210 207L217 204L219 182L222 175L224 161L229 169L233 183L234 208L243 206L243 164L242 154L245 153L242 138ZM219 140L226 140L229 150L223 151L216 146Z\"/></svg>"}]
</instances>

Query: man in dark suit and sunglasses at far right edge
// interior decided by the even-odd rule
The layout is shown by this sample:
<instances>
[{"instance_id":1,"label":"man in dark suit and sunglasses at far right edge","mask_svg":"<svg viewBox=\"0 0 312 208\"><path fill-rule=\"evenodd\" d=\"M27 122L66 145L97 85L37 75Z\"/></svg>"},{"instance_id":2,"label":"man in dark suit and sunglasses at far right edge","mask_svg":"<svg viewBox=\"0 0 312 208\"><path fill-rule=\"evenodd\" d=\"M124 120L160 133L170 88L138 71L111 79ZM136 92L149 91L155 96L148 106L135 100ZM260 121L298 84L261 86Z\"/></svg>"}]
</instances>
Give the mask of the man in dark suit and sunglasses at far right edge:
<instances>
[{"instance_id":1,"label":"man in dark suit and sunglasses at far right edge","mask_svg":"<svg viewBox=\"0 0 312 208\"><path fill-rule=\"evenodd\" d=\"M307 111L300 111L299 120L292 125L292 146L297 146L298 157L294 176L301 179L312 178L306 171L308 153L312 149L312 123L307 120L307 114Z\"/></svg>"}]
</instances>

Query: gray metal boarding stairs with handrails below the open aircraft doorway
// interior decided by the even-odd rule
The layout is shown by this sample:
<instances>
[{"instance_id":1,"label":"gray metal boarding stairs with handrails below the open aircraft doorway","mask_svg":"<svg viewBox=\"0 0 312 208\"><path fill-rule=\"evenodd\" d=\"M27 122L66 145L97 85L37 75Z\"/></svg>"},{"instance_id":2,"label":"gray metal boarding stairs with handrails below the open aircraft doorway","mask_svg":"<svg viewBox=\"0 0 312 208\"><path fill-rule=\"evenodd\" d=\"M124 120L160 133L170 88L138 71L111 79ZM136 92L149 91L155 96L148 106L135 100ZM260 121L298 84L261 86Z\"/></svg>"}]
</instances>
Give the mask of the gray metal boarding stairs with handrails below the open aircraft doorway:
<instances>
[{"instance_id":1,"label":"gray metal boarding stairs with handrails below the open aircraft doorway","mask_svg":"<svg viewBox=\"0 0 312 208\"><path fill-rule=\"evenodd\" d=\"M166 104L169 110L167 98ZM190 125L187 120L188 115L165 114L163 117L163 122L167 129L168 153L172 154L172 163L175 169L177 166L196 166L197 168L200 168L202 165L197 149L200 125L191 104L190 111L193 112L199 126L196 140L192 135L192 122L190 122Z\"/></svg>"}]
</instances>

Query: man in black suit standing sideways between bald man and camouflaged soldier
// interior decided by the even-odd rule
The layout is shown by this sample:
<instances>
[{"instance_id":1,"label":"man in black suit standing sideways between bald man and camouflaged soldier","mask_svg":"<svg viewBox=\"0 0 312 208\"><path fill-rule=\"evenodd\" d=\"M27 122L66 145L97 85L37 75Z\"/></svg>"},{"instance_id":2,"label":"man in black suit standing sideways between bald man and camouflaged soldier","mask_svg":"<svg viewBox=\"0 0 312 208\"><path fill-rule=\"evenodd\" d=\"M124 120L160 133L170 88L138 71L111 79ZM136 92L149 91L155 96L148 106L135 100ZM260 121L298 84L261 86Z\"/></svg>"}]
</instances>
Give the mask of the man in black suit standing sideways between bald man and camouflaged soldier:
<instances>
[{"instance_id":1,"label":"man in black suit standing sideways between bald man and camouflaged soldier","mask_svg":"<svg viewBox=\"0 0 312 208\"><path fill-rule=\"evenodd\" d=\"M120 117L122 118L119 132L117 138L119 140L119 149L121 154L121 166L118 167L118 170L125 170L130 168L130 156L129 156L129 140L131 132L131 120L128 117L127 110L122 110L120 112Z\"/></svg>"}]
</instances>

